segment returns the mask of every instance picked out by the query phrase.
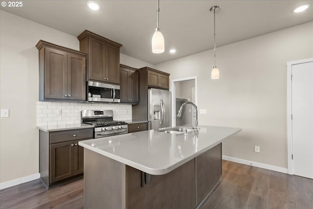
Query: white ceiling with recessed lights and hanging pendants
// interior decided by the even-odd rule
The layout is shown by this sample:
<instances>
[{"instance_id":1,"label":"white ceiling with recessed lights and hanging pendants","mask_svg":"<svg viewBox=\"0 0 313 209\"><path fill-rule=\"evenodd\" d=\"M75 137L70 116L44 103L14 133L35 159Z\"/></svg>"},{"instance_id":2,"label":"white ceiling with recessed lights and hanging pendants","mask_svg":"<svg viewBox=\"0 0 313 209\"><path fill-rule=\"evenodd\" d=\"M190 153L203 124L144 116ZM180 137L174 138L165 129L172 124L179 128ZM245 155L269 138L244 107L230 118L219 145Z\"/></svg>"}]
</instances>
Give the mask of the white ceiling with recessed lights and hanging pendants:
<instances>
[{"instance_id":1,"label":"white ceiling with recessed lights and hanging pendants","mask_svg":"<svg viewBox=\"0 0 313 209\"><path fill-rule=\"evenodd\" d=\"M156 28L157 0L23 0L20 8L1 9L78 36L85 29L122 44L121 53L158 64L212 49L212 6L216 13L217 47L313 21L313 0L160 0L159 27L165 52L153 54L151 38ZM2 0L1 0L2 2ZM310 3L305 12L292 13ZM170 54L170 48L176 48ZM218 53L218 51L217 51Z\"/></svg>"}]
</instances>

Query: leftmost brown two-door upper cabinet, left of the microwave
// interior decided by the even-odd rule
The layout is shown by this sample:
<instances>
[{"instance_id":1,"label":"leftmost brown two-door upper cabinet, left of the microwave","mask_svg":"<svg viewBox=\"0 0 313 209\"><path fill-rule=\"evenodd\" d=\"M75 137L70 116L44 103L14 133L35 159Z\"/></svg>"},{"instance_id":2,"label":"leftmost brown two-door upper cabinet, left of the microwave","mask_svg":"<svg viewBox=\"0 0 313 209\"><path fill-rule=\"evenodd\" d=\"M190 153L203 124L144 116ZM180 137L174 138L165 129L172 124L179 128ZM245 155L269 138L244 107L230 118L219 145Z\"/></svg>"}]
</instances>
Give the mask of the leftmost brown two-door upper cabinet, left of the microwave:
<instances>
[{"instance_id":1,"label":"leftmost brown two-door upper cabinet, left of the microwave","mask_svg":"<svg viewBox=\"0 0 313 209\"><path fill-rule=\"evenodd\" d=\"M39 100L86 101L86 54L40 40Z\"/></svg>"}]
</instances>

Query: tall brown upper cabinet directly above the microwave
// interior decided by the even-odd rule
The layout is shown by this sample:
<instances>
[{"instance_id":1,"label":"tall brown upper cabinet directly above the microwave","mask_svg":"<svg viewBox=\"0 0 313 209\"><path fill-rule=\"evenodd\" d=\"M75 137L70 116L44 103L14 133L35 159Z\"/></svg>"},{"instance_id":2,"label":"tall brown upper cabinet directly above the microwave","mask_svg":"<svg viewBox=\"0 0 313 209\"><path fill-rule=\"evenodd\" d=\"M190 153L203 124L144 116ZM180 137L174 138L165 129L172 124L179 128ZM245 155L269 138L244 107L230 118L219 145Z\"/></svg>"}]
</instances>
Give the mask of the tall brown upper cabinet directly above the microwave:
<instances>
[{"instance_id":1,"label":"tall brown upper cabinet directly above the microwave","mask_svg":"<svg viewBox=\"0 0 313 209\"><path fill-rule=\"evenodd\" d=\"M87 80L119 84L119 48L122 45L88 30L77 39L80 51L88 54Z\"/></svg>"}]
</instances>

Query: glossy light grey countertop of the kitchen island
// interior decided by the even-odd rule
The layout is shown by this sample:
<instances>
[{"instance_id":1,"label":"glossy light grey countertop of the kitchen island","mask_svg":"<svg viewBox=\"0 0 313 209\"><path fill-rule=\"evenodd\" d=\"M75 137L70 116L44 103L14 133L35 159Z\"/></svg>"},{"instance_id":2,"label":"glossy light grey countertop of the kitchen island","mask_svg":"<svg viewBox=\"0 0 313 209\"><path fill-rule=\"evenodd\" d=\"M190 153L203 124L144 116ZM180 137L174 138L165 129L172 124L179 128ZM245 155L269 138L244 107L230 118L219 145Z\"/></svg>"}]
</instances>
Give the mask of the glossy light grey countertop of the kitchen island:
<instances>
[{"instance_id":1,"label":"glossy light grey countertop of the kitchen island","mask_svg":"<svg viewBox=\"0 0 313 209\"><path fill-rule=\"evenodd\" d=\"M199 127L198 134L192 131L186 136L149 130L89 139L78 144L143 172L163 175L241 131L240 128Z\"/></svg>"}]
</instances>

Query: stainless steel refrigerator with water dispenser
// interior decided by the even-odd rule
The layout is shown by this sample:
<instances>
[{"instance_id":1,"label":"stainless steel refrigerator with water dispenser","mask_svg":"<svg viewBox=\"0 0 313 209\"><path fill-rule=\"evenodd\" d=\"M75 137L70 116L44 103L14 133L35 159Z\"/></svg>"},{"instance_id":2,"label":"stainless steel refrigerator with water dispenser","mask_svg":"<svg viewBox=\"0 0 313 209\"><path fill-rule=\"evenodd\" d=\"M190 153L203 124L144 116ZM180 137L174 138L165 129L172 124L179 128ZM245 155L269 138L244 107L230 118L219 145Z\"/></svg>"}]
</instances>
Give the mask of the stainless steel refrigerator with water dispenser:
<instances>
[{"instance_id":1,"label":"stainless steel refrigerator with water dispenser","mask_svg":"<svg viewBox=\"0 0 313 209\"><path fill-rule=\"evenodd\" d=\"M171 127L171 92L148 89L149 130Z\"/></svg>"}]
</instances>

